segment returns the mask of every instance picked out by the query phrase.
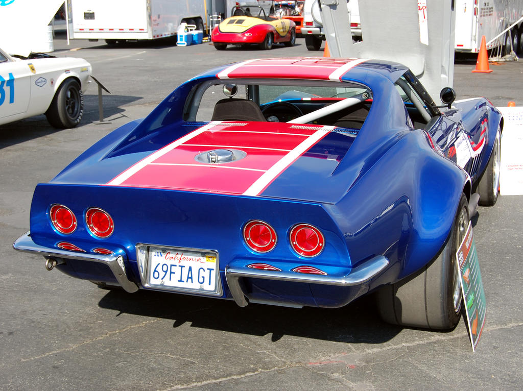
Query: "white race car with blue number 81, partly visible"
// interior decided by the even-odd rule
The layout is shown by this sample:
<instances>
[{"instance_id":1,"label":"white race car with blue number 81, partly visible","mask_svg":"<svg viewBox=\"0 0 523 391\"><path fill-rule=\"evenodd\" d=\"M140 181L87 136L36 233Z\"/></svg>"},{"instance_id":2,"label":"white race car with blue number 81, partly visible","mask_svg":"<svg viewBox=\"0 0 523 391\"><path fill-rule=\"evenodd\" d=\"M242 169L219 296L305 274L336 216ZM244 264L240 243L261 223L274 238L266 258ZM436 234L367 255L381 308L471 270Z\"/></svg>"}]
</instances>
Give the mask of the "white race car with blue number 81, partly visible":
<instances>
[{"instance_id":1,"label":"white race car with blue number 81, partly visible","mask_svg":"<svg viewBox=\"0 0 523 391\"><path fill-rule=\"evenodd\" d=\"M0 49L0 125L46 114L55 128L74 128L84 113L91 65L83 59L11 56Z\"/></svg>"}]
</instances>

